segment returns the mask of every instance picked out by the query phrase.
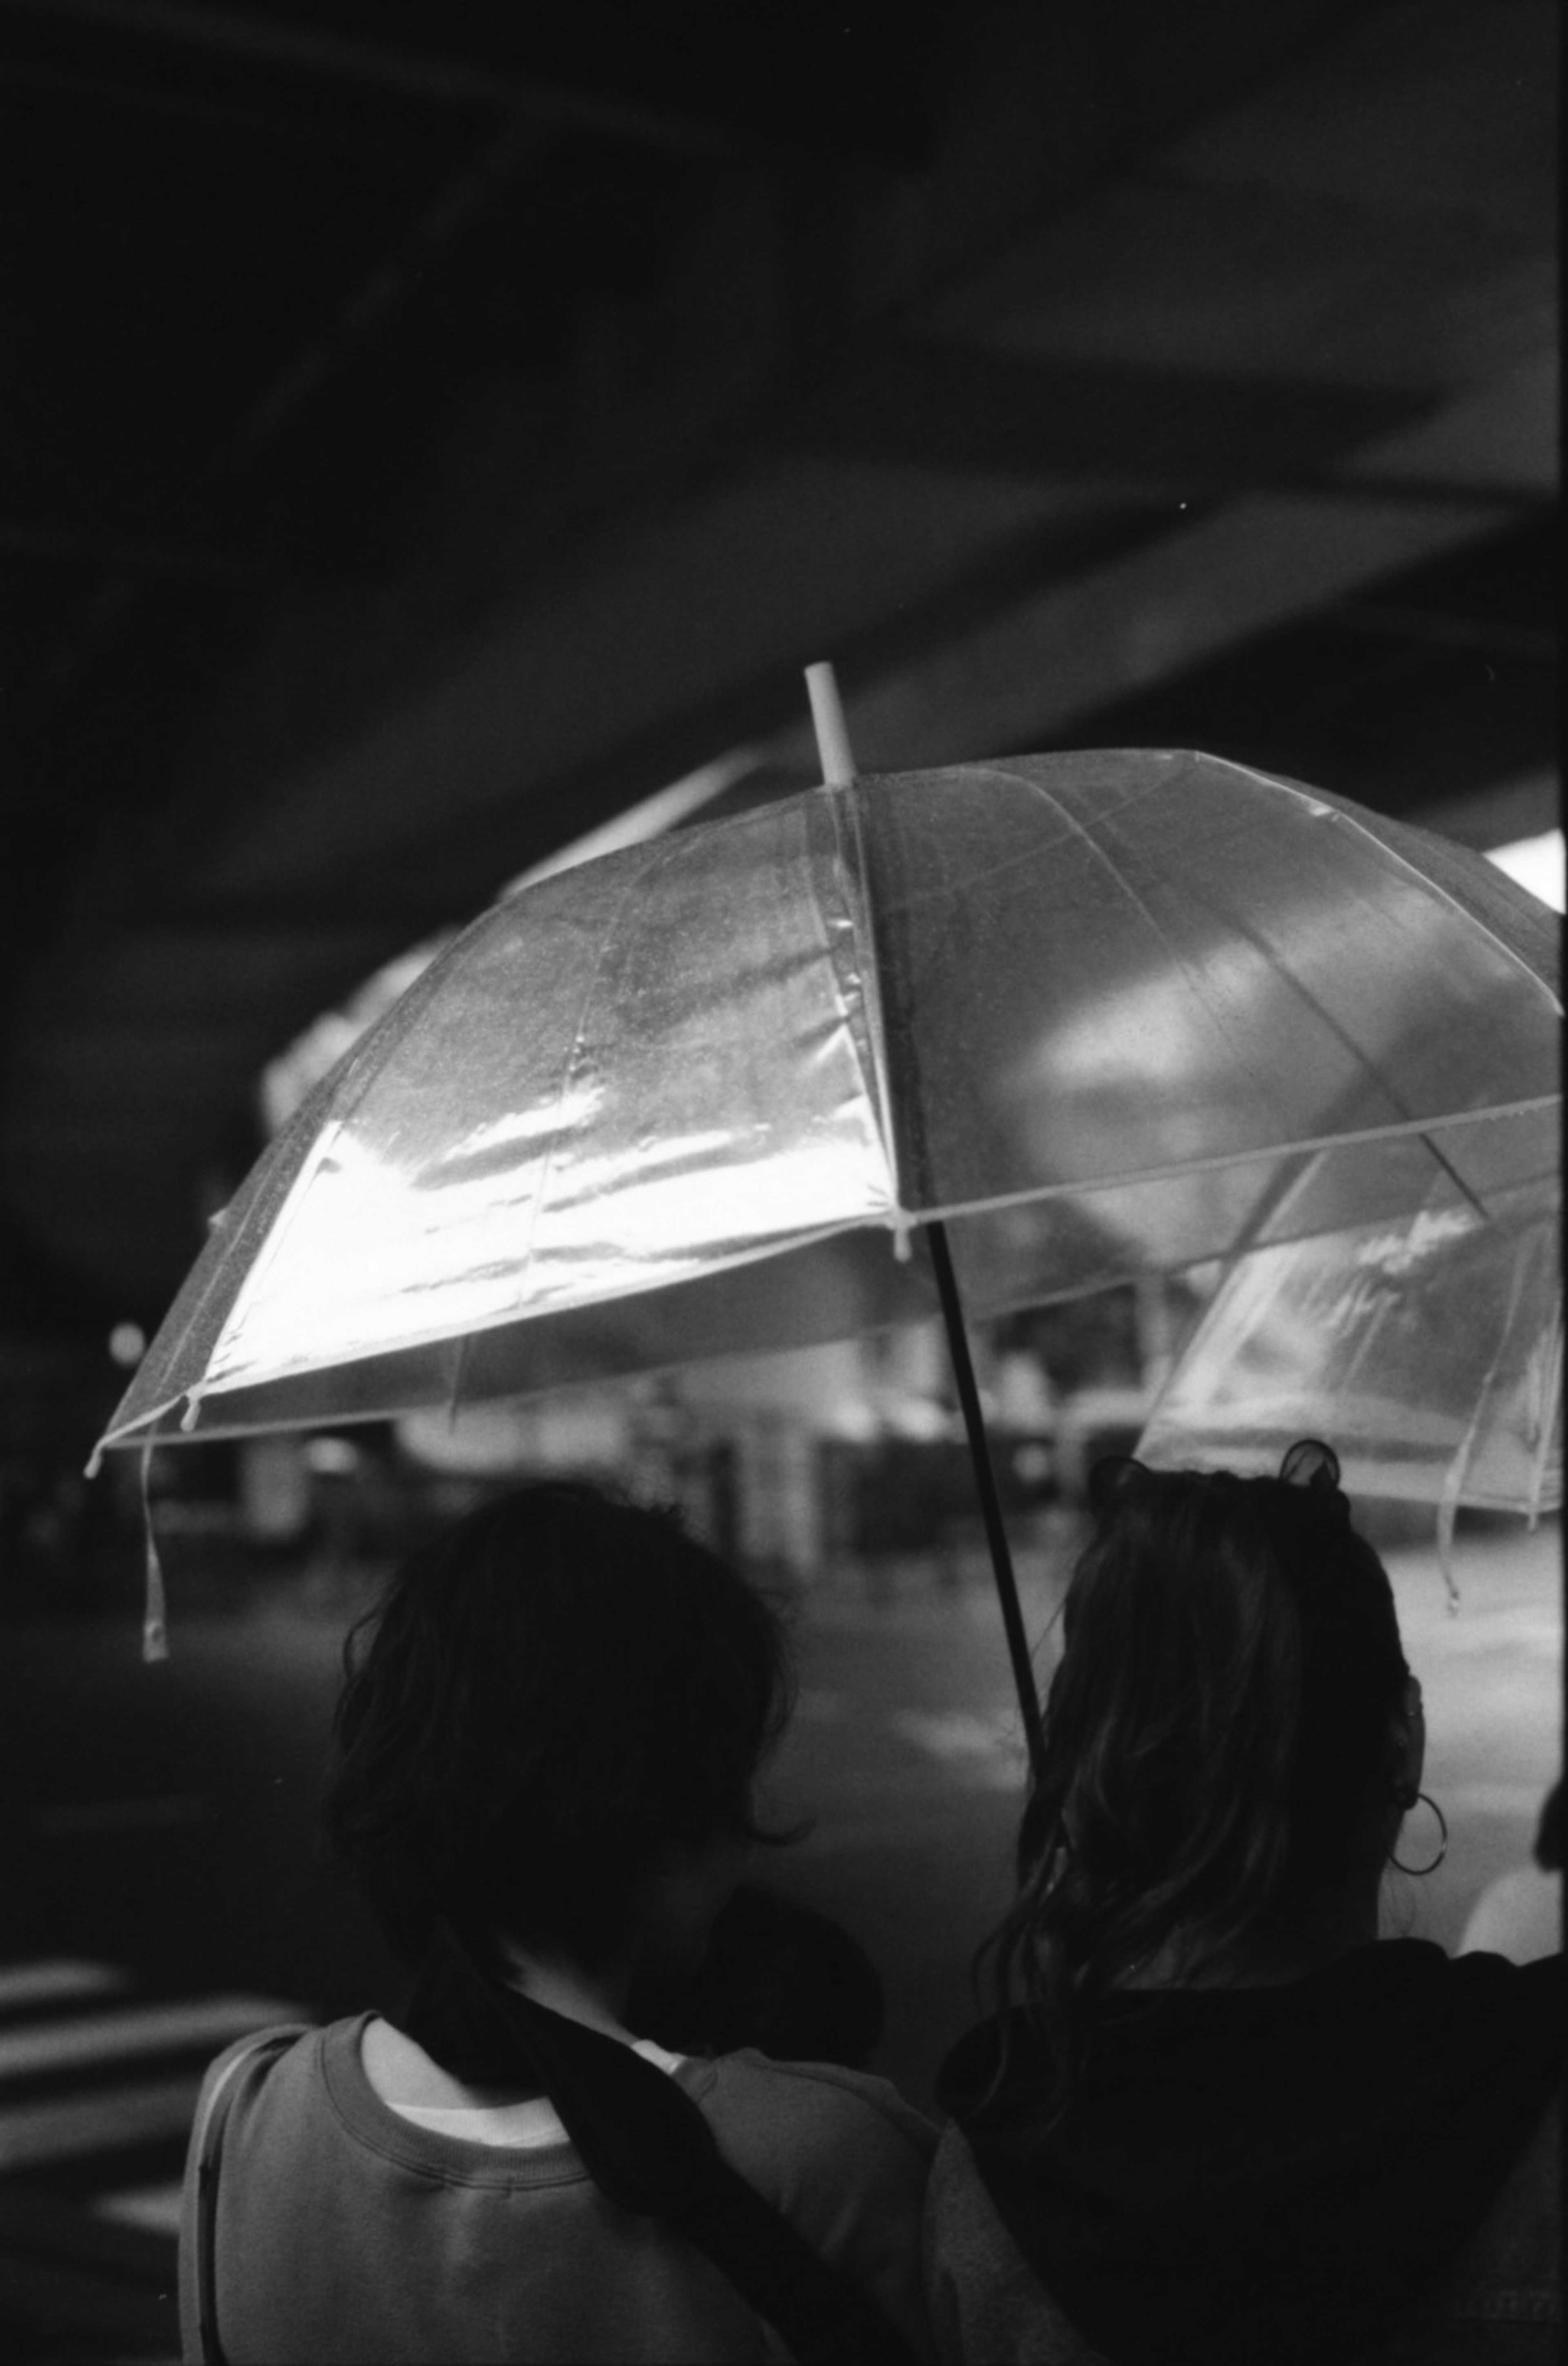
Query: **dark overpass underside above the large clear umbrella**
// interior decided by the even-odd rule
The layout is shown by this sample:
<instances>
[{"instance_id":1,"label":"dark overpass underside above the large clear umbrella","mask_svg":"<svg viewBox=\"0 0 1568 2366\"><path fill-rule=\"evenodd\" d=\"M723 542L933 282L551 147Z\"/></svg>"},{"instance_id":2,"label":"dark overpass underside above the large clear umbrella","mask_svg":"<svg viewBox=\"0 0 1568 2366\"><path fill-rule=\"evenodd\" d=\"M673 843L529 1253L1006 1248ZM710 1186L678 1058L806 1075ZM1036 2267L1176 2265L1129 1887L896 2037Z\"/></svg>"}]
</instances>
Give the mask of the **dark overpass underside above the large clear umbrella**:
<instances>
[{"instance_id":1,"label":"dark overpass underside above the large clear umbrella","mask_svg":"<svg viewBox=\"0 0 1568 2366\"><path fill-rule=\"evenodd\" d=\"M1547 0L0 0L0 1330L674 776L1206 745L1544 828Z\"/></svg>"}]
</instances>

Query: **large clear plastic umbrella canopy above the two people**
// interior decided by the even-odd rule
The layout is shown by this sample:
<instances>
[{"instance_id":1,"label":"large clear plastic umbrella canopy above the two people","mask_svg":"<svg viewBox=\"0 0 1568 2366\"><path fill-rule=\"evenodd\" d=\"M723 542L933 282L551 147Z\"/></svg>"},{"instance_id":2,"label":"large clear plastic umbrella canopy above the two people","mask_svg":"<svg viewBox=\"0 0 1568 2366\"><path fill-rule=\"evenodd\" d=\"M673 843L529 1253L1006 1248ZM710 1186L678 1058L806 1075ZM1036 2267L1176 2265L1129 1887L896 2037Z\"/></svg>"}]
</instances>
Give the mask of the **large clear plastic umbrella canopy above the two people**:
<instances>
[{"instance_id":1,"label":"large clear plastic umbrella canopy above the two people","mask_svg":"<svg viewBox=\"0 0 1568 2366\"><path fill-rule=\"evenodd\" d=\"M1239 764L809 790L475 920L258 1162L104 1446L927 1318L934 1218L979 1313L1485 1218L1554 1188L1559 1020L1533 897Z\"/></svg>"}]
</instances>

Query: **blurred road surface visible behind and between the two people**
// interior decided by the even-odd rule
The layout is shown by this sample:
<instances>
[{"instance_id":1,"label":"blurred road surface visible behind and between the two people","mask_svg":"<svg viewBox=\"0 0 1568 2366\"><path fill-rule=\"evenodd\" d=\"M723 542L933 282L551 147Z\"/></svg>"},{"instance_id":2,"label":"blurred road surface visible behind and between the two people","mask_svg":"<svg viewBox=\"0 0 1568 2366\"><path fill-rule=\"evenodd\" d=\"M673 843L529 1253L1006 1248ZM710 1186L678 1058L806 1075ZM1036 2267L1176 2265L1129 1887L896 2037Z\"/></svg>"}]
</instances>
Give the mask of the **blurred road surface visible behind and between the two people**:
<instances>
[{"instance_id":1,"label":"blurred road surface visible behind and between the two people","mask_svg":"<svg viewBox=\"0 0 1568 2366\"><path fill-rule=\"evenodd\" d=\"M1024 1564L1036 1635L1064 1562ZM1388 1916L1452 1945L1480 1886L1528 1853L1561 1765L1559 1531L1462 1533L1452 1616L1431 1550L1388 1564L1426 1689L1426 1789L1452 1834L1431 1881L1391 1881ZM57 2212L57 2248L90 2224L142 2274L154 2331L203 2061L241 2028L352 2011L400 1978L312 1838L348 1602L322 1573L227 1614L173 1585L173 1659L154 1668L130 1597L114 1623L5 1633L0 2252L28 2210ZM1007 1895L1019 1801L989 1580L970 1569L941 1588L911 1562L875 1590L823 1588L797 1661L771 1789L814 1829L764 1872L870 1950L887 1983L877 2066L929 2103L970 2018L972 1950ZM1426 1855L1424 1817L1412 1848Z\"/></svg>"}]
</instances>

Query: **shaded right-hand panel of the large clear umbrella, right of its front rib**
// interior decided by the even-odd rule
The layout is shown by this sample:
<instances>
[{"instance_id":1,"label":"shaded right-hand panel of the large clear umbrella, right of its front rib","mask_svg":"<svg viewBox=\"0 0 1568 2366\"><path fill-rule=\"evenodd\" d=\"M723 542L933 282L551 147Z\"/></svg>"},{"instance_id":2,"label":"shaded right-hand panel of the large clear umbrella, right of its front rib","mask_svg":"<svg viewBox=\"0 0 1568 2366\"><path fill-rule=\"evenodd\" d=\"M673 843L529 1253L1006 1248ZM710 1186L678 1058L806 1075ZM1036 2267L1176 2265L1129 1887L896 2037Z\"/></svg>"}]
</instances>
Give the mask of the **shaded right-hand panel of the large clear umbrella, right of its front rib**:
<instances>
[{"instance_id":1,"label":"shaded right-hand panel of the large clear umbrella, right of its front rib","mask_svg":"<svg viewBox=\"0 0 1568 2366\"><path fill-rule=\"evenodd\" d=\"M1426 833L1156 752L873 778L861 814L913 1209L1556 1091L1551 916Z\"/></svg>"}]
</instances>

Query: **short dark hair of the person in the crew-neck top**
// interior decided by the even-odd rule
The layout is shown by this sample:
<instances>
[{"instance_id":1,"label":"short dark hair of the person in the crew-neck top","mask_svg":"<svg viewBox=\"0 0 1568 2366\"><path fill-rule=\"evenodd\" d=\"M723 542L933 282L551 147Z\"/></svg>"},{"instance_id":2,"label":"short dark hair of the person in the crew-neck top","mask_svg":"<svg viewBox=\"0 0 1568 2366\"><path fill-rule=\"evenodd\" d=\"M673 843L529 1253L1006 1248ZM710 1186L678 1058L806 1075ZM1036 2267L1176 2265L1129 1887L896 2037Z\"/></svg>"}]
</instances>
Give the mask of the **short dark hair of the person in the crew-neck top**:
<instances>
[{"instance_id":1,"label":"short dark hair of the person in the crew-neck top","mask_svg":"<svg viewBox=\"0 0 1568 2366\"><path fill-rule=\"evenodd\" d=\"M409 1554L343 1670L326 1836L407 1957L449 1914L601 1964L662 1848L783 1838L780 1614L672 1512L518 1488Z\"/></svg>"}]
</instances>

